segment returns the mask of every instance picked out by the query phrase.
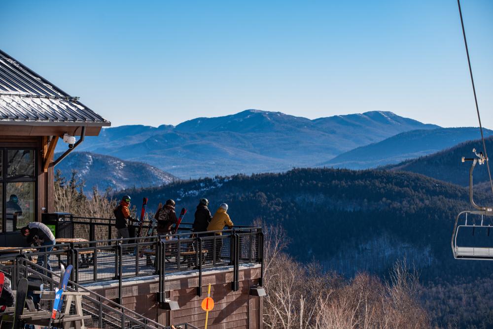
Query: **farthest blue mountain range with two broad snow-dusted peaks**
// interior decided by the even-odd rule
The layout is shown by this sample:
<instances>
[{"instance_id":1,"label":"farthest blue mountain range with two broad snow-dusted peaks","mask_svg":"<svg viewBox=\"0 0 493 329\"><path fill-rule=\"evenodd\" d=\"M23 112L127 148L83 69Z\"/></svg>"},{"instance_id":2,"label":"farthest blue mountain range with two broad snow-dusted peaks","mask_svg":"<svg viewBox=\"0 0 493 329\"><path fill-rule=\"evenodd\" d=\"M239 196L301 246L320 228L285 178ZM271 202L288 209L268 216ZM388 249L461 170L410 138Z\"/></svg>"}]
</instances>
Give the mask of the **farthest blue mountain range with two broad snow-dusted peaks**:
<instances>
[{"instance_id":1,"label":"farthest blue mountain range with two broad snow-dusted peaks","mask_svg":"<svg viewBox=\"0 0 493 329\"><path fill-rule=\"evenodd\" d=\"M436 128L381 111L310 120L246 110L177 126L107 128L77 151L144 162L186 179L314 166L401 132Z\"/></svg>"}]
</instances>

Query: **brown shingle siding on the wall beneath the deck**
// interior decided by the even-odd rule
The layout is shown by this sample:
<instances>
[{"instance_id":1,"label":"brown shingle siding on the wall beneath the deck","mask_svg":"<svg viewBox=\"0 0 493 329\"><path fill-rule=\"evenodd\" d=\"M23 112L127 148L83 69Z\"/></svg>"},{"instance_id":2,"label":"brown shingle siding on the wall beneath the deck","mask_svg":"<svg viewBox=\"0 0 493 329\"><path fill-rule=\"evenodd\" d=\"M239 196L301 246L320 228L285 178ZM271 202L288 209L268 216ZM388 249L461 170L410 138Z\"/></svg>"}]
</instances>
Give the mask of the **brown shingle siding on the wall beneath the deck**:
<instances>
[{"instance_id":1,"label":"brown shingle siding on the wall beneath the deck","mask_svg":"<svg viewBox=\"0 0 493 329\"><path fill-rule=\"evenodd\" d=\"M211 283L214 309L209 312L208 328L263 328L262 297L249 296L250 287L258 284L260 268L241 268L239 274L240 289L234 292L231 290L231 281L233 280L231 268L203 273L202 296L196 295L198 275L167 277L167 297L177 301L180 308L176 311L166 311L159 308L156 302L157 278L124 282L121 303L161 324L188 322L198 328L204 328L206 313L201 308L201 302L207 296L207 287ZM116 299L118 297L118 286L115 283L92 289L106 298Z\"/></svg>"}]
</instances>

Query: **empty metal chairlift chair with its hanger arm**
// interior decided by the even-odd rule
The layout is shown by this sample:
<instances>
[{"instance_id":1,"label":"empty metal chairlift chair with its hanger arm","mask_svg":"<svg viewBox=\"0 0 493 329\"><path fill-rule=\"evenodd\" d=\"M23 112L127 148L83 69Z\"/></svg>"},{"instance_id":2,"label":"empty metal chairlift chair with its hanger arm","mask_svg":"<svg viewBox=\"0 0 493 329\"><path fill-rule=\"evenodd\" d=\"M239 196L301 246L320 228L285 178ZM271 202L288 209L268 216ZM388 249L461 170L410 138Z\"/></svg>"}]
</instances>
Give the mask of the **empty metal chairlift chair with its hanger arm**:
<instances>
[{"instance_id":1,"label":"empty metal chairlift chair with its hanger arm","mask_svg":"<svg viewBox=\"0 0 493 329\"><path fill-rule=\"evenodd\" d=\"M476 164L483 165L486 158L483 152L476 153L476 158L466 159L462 162L472 161L469 169L469 201L474 210L461 211L457 217L452 231L452 252L455 259L468 260L493 260L493 206L478 206L473 199L472 172ZM463 224L458 224L464 220ZM459 233L460 232L460 233Z\"/></svg>"}]
</instances>

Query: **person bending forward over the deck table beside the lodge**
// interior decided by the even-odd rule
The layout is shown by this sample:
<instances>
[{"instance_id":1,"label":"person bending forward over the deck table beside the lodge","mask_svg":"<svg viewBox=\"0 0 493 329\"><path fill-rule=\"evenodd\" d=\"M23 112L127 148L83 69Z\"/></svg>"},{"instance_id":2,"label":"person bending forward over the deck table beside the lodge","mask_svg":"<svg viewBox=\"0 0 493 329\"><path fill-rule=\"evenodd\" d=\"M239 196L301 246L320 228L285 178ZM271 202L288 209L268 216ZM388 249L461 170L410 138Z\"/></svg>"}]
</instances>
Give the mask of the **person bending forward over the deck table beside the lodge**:
<instances>
[{"instance_id":1,"label":"person bending forward over the deck table beside the lodge","mask_svg":"<svg viewBox=\"0 0 493 329\"><path fill-rule=\"evenodd\" d=\"M39 252L50 252L53 250L53 246L56 244L55 235L53 232L43 223L32 222L28 226L21 229L21 235L27 238L27 242L34 246L44 246L44 248L39 248ZM50 257L47 258L47 264L44 266L44 256L38 255L37 264L39 266L45 267L47 270L51 271Z\"/></svg>"}]
</instances>

